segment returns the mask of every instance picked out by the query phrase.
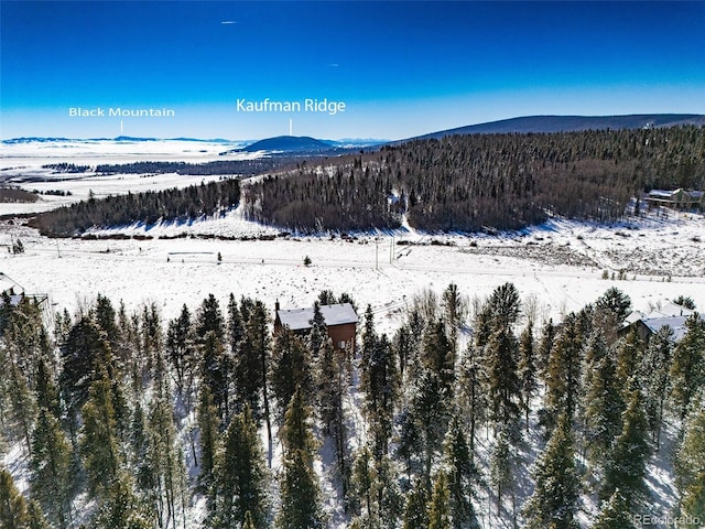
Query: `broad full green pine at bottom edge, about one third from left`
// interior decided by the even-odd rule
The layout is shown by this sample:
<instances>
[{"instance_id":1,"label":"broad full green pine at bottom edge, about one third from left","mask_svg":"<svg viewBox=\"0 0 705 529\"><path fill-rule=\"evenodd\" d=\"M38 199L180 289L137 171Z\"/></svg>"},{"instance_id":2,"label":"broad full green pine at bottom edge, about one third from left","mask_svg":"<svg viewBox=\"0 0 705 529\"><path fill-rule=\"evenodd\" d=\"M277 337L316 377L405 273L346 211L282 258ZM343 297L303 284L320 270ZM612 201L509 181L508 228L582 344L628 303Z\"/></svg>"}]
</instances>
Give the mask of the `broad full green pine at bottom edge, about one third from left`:
<instances>
[{"instance_id":1,"label":"broad full green pine at bottom edge, about one third from left","mask_svg":"<svg viewBox=\"0 0 705 529\"><path fill-rule=\"evenodd\" d=\"M214 481L212 527L235 529L245 522L264 527L268 519L265 499L267 469L257 424L249 408L235 415L225 435L223 456Z\"/></svg>"}]
</instances>

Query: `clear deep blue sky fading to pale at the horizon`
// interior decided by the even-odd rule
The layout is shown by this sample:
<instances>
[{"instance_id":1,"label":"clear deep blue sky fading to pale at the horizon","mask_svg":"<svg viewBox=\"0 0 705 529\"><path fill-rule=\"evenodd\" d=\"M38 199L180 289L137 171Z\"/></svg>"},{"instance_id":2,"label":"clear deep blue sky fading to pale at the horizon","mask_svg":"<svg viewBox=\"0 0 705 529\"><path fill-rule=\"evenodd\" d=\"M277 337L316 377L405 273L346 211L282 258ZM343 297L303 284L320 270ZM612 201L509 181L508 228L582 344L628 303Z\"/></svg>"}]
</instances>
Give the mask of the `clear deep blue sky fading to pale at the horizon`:
<instances>
[{"instance_id":1,"label":"clear deep blue sky fading to pale at the horizon","mask_svg":"<svg viewBox=\"0 0 705 529\"><path fill-rule=\"evenodd\" d=\"M2 1L3 139L401 139L517 116L705 114L705 2ZM343 101L243 112L238 99Z\"/></svg>"}]
</instances>

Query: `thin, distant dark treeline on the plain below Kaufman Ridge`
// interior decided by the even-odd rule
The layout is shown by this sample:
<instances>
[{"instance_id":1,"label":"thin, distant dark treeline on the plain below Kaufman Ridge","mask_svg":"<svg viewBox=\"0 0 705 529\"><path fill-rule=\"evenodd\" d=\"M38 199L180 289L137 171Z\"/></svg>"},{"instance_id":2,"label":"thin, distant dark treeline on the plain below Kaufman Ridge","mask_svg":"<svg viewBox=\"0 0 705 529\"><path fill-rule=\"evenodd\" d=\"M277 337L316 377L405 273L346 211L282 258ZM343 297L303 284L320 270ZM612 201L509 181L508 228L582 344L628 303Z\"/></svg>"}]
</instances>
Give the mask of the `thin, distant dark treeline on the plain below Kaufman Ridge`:
<instances>
[{"instance_id":1,"label":"thin, distant dark treeline on the plain below Kaufman Ridge","mask_svg":"<svg viewBox=\"0 0 705 529\"><path fill-rule=\"evenodd\" d=\"M96 173L102 174L162 174L176 173L185 175L252 175L290 165L292 162L282 158L260 158L256 160L218 160L206 163L186 162L131 162L101 164Z\"/></svg>"}]
</instances>

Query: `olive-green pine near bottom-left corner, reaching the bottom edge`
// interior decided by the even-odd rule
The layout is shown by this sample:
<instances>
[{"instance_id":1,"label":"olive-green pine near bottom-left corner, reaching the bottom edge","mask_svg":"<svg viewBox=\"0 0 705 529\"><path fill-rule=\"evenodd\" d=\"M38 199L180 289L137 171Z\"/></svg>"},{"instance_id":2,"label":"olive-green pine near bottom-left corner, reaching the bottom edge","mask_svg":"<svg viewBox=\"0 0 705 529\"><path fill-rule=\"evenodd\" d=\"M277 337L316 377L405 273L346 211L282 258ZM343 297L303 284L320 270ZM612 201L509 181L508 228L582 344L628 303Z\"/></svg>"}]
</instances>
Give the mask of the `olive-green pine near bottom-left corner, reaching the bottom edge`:
<instances>
[{"instance_id":1,"label":"olive-green pine near bottom-left corner, reaching the bottom edge","mask_svg":"<svg viewBox=\"0 0 705 529\"><path fill-rule=\"evenodd\" d=\"M42 408L32 432L32 497L59 528L68 527L72 498L72 447L58 419Z\"/></svg>"}]
</instances>

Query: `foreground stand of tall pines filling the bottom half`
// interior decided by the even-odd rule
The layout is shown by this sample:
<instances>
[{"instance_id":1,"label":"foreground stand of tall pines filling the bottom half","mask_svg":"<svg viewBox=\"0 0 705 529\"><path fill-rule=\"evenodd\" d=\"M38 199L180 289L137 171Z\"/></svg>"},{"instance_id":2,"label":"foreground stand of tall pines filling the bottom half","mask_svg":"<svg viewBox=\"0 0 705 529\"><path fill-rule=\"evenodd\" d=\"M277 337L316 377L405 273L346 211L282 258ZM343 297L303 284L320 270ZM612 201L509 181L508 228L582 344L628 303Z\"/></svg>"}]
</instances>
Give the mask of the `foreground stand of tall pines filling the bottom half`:
<instances>
[{"instance_id":1,"label":"foreground stand of tall pines filling the bottom half","mask_svg":"<svg viewBox=\"0 0 705 529\"><path fill-rule=\"evenodd\" d=\"M697 314L680 342L664 327L644 343L620 332L630 300L614 288L536 330L511 283L473 314L451 284L416 295L392 335L368 306L354 354L317 309L340 301L324 291L311 332L272 335L267 306L232 294L167 322L98 295L52 331L33 302L6 300L0 428L30 487L0 471L0 525L171 529L205 499L188 527L324 528L337 511L349 529L577 528L587 498L595 529L702 523ZM674 462L669 512L647 483L659 451Z\"/></svg>"}]
</instances>

